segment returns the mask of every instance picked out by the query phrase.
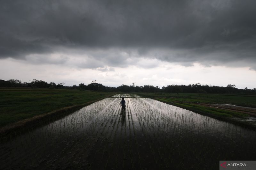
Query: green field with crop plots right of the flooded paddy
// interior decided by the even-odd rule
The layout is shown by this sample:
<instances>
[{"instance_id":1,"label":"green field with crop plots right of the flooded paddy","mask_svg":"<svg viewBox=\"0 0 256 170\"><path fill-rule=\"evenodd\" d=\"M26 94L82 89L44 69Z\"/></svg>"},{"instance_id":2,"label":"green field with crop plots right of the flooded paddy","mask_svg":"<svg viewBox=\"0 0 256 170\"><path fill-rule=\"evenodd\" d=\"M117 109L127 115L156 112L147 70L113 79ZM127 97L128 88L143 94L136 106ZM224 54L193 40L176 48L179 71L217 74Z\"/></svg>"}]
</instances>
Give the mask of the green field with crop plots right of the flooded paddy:
<instances>
[{"instance_id":1,"label":"green field with crop plots right of the flooded paddy","mask_svg":"<svg viewBox=\"0 0 256 170\"><path fill-rule=\"evenodd\" d=\"M198 94L198 93L138 93L140 96L153 98L168 104L186 108L197 113L207 113L222 117L247 117L254 115L253 111L244 112L232 108L216 108L203 104L232 104L256 108L255 94Z\"/></svg>"}]
</instances>

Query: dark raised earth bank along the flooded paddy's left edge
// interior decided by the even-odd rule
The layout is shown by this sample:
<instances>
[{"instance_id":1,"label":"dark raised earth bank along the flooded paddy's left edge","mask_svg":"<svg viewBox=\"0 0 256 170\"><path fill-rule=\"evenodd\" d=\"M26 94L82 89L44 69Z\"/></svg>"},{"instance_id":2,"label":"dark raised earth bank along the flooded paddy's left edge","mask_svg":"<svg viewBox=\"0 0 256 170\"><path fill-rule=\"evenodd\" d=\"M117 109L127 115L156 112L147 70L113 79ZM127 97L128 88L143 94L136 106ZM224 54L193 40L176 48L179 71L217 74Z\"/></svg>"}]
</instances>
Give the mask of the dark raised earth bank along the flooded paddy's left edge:
<instances>
[{"instance_id":1,"label":"dark raised earth bank along the flooded paddy's left edge","mask_svg":"<svg viewBox=\"0 0 256 170\"><path fill-rule=\"evenodd\" d=\"M111 97L111 96L112 95L110 95L108 97ZM104 98L106 98L106 97L104 97ZM37 116L31 117L28 119L24 119L24 120L6 125L4 127L1 127L0 128L0 143L2 141L8 140L8 138L11 138L12 136L16 136L16 134L18 134L18 133L26 133L32 129L43 126L49 122L56 121L70 113L73 113L74 111L76 111L82 107L90 105L90 104L97 102L99 100L102 100L104 98L86 102L86 103L80 104L80 105L63 107L63 108L60 108L57 110L53 110L52 112L37 115Z\"/></svg>"}]
</instances>

